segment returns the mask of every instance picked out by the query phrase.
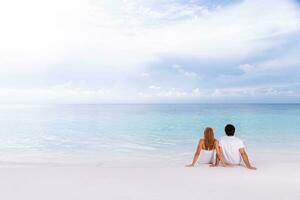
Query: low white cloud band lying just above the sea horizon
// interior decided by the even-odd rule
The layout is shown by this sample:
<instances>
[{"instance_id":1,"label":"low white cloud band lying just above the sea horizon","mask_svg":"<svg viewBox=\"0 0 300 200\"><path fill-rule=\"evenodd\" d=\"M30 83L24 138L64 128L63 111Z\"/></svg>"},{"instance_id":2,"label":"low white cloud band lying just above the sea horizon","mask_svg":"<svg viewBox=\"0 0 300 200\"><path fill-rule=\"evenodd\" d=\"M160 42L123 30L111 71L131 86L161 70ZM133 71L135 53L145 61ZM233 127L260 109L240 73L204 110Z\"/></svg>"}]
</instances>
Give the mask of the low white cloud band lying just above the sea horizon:
<instances>
[{"instance_id":1,"label":"low white cloud band lying just above the sea horizon","mask_svg":"<svg viewBox=\"0 0 300 200\"><path fill-rule=\"evenodd\" d=\"M144 103L144 102L211 102L254 97L299 97L291 89L278 87L236 87L218 89L183 89L150 87L150 90L125 90L122 88L91 89L63 85L49 88L0 88L0 103Z\"/></svg>"}]
</instances>

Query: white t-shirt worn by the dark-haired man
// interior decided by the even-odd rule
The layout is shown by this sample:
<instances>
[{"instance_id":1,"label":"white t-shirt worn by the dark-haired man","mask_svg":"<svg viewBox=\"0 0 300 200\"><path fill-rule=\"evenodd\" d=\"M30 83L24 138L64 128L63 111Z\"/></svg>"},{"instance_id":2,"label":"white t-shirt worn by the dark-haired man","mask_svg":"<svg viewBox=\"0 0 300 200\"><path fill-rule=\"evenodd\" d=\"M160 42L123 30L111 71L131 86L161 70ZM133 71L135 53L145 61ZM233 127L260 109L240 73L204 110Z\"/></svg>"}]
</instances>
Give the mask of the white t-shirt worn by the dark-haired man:
<instances>
[{"instance_id":1,"label":"white t-shirt worn by the dark-haired man","mask_svg":"<svg viewBox=\"0 0 300 200\"><path fill-rule=\"evenodd\" d=\"M220 139L225 162L232 165L241 164L242 158L239 149L244 148L242 140L234 136L223 136Z\"/></svg>"}]
</instances>

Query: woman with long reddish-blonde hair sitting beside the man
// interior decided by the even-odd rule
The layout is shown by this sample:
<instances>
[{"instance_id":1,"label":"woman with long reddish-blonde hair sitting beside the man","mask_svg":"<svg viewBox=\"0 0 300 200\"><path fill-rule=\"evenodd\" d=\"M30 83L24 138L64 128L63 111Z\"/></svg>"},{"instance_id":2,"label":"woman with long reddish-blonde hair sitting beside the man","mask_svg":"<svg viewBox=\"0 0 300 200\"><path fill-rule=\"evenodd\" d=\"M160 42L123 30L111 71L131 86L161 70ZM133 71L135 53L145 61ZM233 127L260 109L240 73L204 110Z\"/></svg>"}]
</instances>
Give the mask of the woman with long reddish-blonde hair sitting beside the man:
<instances>
[{"instance_id":1,"label":"woman with long reddish-blonde hair sitting beside the man","mask_svg":"<svg viewBox=\"0 0 300 200\"><path fill-rule=\"evenodd\" d=\"M219 142L215 139L214 130L210 127L205 128L204 137L199 140L192 164L187 167L194 167L198 161L201 164L213 164L218 158L222 166L226 166L222 152L219 148ZM200 155L201 153L201 155Z\"/></svg>"}]
</instances>

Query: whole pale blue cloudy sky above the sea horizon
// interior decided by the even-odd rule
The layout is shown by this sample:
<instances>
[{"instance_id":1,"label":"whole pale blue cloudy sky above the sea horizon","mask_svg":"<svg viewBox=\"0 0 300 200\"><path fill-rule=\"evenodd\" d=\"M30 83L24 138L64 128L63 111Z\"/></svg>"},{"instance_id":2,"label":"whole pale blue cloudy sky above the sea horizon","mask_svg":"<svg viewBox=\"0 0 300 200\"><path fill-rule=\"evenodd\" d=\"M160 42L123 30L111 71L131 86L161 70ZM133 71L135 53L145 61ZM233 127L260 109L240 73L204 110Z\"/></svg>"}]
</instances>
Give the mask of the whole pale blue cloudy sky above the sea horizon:
<instances>
[{"instance_id":1,"label":"whole pale blue cloudy sky above the sea horizon","mask_svg":"<svg viewBox=\"0 0 300 200\"><path fill-rule=\"evenodd\" d=\"M299 1L11 0L0 21L2 103L300 102Z\"/></svg>"}]
</instances>

